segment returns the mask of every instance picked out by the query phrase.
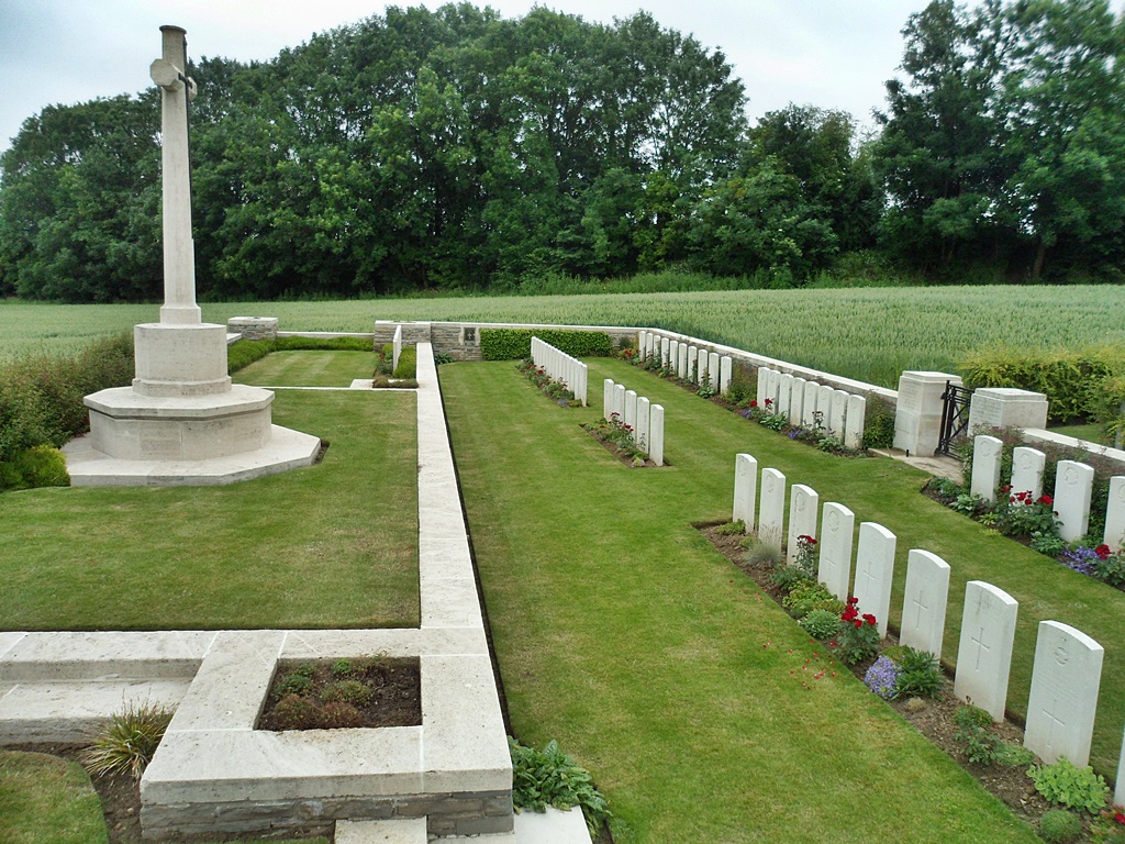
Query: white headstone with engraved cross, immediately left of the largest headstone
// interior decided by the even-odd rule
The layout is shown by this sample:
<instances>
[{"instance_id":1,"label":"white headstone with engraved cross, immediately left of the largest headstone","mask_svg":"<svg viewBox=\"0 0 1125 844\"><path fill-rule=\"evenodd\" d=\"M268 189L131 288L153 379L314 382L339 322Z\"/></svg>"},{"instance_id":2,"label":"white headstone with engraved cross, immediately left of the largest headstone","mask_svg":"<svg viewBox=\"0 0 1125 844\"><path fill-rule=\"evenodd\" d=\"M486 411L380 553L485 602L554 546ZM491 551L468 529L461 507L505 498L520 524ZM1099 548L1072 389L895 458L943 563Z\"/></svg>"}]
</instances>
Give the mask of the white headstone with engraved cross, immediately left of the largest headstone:
<instances>
[{"instance_id":1,"label":"white headstone with engraved cross, immediately left of the largest headstone","mask_svg":"<svg viewBox=\"0 0 1125 844\"><path fill-rule=\"evenodd\" d=\"M991 583L965 584L953 693L983 709L997 724L1004 720L1008 706L1008 673L1018 610L1016 599Z\"/></svg>"}]
</instances>

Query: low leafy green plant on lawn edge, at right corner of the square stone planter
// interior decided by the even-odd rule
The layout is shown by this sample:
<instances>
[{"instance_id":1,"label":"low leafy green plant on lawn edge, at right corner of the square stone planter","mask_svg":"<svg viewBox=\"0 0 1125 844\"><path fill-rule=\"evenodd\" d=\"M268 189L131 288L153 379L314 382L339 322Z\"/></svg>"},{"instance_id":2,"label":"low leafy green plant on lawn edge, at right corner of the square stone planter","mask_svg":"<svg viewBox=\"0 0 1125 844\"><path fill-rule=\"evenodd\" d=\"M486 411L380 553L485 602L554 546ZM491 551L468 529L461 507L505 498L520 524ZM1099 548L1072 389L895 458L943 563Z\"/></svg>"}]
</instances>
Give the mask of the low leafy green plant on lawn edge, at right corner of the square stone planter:
<instances>
[{"instance_id":1,"label":"low leafy green plant on lawn edge, at right corner of the square stone planter","mask_svg":"<svg viewBox=\"0 0 1125 844\"><path fill-rule=\"evenodd\" d=\"M557 742L548 742L542 751L525 747L512 737L507 745L512 753L512 803L516 809L546 811L548 806L580 806L591 833L612 817L590 772L562 753Z\"/></svg>"}]
</instances>

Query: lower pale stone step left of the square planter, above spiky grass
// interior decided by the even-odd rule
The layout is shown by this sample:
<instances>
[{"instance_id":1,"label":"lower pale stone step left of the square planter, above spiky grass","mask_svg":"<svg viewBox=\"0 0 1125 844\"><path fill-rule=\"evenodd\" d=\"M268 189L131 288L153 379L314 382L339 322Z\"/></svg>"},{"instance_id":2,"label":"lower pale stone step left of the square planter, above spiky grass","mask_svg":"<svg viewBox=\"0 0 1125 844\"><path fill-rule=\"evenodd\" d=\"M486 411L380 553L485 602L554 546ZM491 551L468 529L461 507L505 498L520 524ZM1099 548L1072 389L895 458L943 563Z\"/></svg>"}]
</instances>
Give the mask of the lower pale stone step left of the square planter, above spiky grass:
<instances>
[{"instance_id":1,"label":"lower pale stone step left of the square planter, above spiky grass","mask_svg":"<svg viewBox=\"0 0 1125 844\"><path fill-rule=\"evenodd\" d=\"M0 683L0 744L80 743L126 706L176 709L190 679Z\"/></svg>"}]
</instances>

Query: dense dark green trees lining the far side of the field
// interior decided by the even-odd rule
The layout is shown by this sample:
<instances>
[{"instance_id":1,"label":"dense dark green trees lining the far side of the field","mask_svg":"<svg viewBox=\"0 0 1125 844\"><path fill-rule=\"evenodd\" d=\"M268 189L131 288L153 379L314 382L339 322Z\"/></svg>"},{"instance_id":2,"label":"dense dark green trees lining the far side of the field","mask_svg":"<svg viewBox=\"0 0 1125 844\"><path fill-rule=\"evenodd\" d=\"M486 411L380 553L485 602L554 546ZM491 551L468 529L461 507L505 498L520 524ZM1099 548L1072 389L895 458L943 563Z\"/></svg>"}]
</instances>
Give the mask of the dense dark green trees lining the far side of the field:
<instances>
[{"instance_id":1,"label":"dense dark green trees lining the far side of the field","mask_svg":"<svg viewBox=\"0 0 1125 844\"><path fill-rule=\"evenodd\" d=\"M746 119L724 55L469 3L274 60L202 57L200 298L515 290L675 269L801 285L849 258L936 281L1122 280L1125 23L1107 0L935 0L878 131ZM48 107L0 156L0 295L159 299L160 108Z\"/></svg>"}]
</instances>

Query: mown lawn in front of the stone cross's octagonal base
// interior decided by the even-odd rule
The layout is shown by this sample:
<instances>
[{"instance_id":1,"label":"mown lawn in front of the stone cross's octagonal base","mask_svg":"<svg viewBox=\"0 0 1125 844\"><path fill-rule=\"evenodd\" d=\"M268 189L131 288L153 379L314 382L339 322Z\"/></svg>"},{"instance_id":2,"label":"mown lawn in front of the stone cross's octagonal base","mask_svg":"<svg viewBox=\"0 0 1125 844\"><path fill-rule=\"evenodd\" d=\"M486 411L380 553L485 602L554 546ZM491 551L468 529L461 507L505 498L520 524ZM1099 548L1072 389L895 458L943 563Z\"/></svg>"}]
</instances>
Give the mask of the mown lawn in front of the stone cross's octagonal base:
<instances>
[{"instance_id":1,"label":"mown lawn in front of the stone cross's octagonal base","mask_svg":"<svg viewBox=\"0 0 1125 844\"><path fill-rule=\"evenodd\" d=\"M316 466L6 493L3 628L416 626L415 413L410 393L284 390L273 421L331 443Z\"/></svg>"}]
</instances>

